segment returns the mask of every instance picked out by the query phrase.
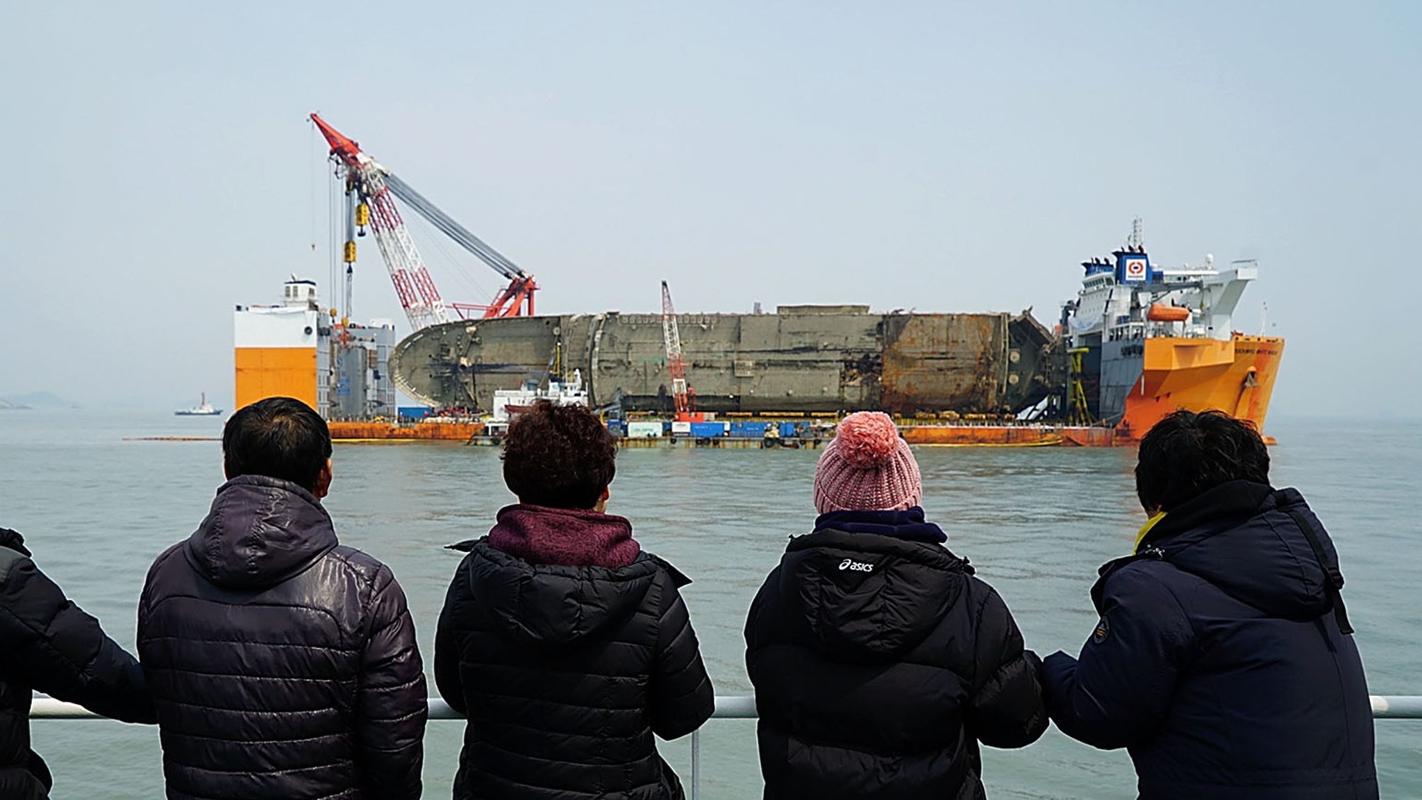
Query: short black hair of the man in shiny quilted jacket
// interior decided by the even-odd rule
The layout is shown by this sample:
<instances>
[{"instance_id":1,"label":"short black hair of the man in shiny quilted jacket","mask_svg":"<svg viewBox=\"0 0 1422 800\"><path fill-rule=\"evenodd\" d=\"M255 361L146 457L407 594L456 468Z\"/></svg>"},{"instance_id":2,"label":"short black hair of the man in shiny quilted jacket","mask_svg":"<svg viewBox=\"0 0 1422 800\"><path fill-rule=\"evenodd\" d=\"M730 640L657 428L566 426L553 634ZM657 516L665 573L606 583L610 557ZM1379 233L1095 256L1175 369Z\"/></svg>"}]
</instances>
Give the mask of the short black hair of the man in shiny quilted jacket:
<instances>
[{"instance_id":1,"label":"short black hair of the man in shiny quilted jacket","mask_svg":"<svg viewBox=\"0 0 1422 800\"><path fill-rule=\"evenodd\" d=\"M331 457L326 420L294 397L267 397L232 414L222 428L222 465L228 477L266 475L316 491Z\"/></svg>"}]
</instances>

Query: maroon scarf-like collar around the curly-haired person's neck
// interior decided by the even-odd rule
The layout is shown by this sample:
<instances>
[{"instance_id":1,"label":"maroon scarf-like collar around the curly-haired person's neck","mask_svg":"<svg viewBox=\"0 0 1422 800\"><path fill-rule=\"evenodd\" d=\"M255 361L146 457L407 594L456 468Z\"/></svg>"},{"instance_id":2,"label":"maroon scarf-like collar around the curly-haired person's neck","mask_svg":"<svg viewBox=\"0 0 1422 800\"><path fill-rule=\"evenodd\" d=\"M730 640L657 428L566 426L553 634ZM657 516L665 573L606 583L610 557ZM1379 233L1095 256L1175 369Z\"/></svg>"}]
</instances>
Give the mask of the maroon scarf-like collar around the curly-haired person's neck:
<instances>
[{"instance_id":1,"label":"maroon scarf-like collar around the curly-haired person's neck","mask_svg":"<svg viewBox=\"0 0 1422 800\"><path fill-rule=\"evenodd\" d=\"M529 564L607 567L631 564L641 545L624 517L580 508L506 505L489 531L489 544Z\"/></svg>"}]
</instances>

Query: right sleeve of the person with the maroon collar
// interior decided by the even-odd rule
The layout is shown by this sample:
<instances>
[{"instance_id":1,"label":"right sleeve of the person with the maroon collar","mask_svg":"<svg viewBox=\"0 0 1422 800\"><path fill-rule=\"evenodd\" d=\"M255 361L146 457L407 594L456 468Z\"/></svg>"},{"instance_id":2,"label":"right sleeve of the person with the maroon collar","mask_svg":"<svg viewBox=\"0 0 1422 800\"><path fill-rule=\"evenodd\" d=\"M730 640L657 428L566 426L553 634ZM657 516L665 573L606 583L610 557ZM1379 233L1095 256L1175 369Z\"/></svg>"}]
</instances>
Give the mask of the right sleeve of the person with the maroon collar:
<instances>
[{"instance_id":1,"label":"right sleeve of the person with the maroon collar","mask_svg":"<svg viewBox=\"0 0 1422 800\"><path fill-rule=\"evenodd\" d=\"M651 730L663 739L677 739L711 719L715 692L681 592L665 571L658 572L657 581L661 609L650 680Z\"/></svg>"}]
</instances>

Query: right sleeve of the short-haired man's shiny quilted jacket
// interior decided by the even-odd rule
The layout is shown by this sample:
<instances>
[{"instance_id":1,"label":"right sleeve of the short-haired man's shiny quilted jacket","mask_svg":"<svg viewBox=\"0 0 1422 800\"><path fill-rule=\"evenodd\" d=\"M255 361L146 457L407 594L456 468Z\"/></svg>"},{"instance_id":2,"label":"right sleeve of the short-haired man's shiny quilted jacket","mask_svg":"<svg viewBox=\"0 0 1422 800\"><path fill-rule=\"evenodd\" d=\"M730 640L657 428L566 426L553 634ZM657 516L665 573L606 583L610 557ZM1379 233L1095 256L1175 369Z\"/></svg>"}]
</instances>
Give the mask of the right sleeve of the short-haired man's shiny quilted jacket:
<instances>
[{"instance_id":1,"label":"right sleeve of the short-haired man's shiny quilted jacket","mask_svg":"<svg viewBox=\"0 0 1422 800\"><path fill-rule=\"evenodd\" d=\"M375 574L356 709L367 796L419 797L425 673L405 592L388 567Z\"/></svg>"}]
</instances>

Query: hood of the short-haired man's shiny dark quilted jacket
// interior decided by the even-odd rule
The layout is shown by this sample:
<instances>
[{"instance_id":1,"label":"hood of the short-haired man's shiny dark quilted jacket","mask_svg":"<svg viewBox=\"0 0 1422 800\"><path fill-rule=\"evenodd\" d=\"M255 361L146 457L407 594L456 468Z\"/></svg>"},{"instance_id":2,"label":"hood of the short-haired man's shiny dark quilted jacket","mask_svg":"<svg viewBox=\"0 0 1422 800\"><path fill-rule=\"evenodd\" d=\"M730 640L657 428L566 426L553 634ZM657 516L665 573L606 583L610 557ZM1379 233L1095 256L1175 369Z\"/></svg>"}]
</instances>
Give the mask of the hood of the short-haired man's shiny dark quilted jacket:
<instances>
[{"instance_id":1,"label":"hood of the short-haired man's shiny dark quilted jacket","mask_svg":"<svg viewBox=\"0 0 1422 800\"><path fill-rule=\"evenodd\" d=\"M300 574L337 545L321 502L279 478L240 475L222 484L188 538L186 557L212 584L260 589Z\"/></svg>"}]
</instances>

